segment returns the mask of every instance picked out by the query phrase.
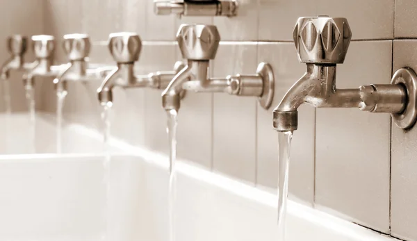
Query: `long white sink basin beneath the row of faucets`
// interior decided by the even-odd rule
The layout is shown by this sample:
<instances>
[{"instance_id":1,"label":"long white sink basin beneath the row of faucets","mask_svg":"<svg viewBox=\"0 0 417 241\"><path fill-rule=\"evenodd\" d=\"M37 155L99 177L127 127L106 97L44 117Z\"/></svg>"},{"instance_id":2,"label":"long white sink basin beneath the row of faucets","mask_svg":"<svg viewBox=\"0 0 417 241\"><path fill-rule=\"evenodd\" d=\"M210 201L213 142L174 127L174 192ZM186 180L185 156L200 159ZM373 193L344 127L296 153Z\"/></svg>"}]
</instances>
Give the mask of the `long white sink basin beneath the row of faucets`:
<instances>
[{"instance_id":1,"label":"long white sink basin beneath the row of faucets","mask_svg":"<svg viewBox=\"0 0 417 241\"><path fill-rule=\"evenodd\" d=\"M167 159L137 151L111 158L108 194L104 156L1 156L0 240L167 240ZM177 240L277 241L275 194L177 167ZM287 234L288 241L393 240L294 202Z\"/></svg>"}]
</instances>

